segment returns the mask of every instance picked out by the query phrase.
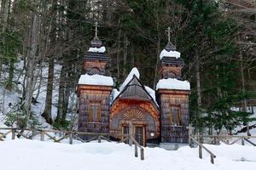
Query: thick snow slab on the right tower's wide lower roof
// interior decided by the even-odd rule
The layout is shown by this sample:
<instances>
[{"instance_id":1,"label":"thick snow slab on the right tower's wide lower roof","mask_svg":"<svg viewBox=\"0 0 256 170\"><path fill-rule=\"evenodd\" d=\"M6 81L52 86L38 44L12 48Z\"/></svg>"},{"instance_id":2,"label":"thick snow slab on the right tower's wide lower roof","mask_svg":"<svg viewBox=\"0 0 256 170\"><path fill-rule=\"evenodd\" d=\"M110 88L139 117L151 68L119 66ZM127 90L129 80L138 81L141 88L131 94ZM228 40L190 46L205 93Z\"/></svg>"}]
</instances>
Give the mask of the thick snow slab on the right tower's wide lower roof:
<instances>
[{"instance_id":1,"label":"thick snow slab on the right tower's wide lower roof","mask_svg":"<svg viewBox=\"0 0 256 170\"><path fill-rule=\"evenodd\" d=\"M160 79L156 85L156 89L190 90L190 83L188 81L177 80L176 78Z\"/></svg>"}]
</instances>

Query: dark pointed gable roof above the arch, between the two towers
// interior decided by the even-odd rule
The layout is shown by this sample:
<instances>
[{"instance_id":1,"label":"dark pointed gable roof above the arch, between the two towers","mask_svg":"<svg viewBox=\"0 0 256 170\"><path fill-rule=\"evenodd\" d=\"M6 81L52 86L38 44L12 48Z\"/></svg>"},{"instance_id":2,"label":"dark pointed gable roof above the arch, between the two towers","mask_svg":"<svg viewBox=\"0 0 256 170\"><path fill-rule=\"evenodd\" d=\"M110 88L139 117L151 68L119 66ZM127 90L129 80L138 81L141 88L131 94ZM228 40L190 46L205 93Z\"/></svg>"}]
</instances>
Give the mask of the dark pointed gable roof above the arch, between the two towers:
<instances>
[{"instance_id":1,"label":"dark pointed gable roof above the arch, between the two towers","mask_svg":"<svg viewBox=\"0 0 256 170\"><path fill-rule=\"evenodd\" d=\"M151 97L150 94L148 94L148 91L143 86L143 83L135 75L133 75L133 77L131 78L131 81L125 85L125 88L122 89L122 91L116 97L116 99L148 100L148 101L152 101L155 107L158 108L158 106L154 102L154 99Z\"/></svg>"}]
</instances>

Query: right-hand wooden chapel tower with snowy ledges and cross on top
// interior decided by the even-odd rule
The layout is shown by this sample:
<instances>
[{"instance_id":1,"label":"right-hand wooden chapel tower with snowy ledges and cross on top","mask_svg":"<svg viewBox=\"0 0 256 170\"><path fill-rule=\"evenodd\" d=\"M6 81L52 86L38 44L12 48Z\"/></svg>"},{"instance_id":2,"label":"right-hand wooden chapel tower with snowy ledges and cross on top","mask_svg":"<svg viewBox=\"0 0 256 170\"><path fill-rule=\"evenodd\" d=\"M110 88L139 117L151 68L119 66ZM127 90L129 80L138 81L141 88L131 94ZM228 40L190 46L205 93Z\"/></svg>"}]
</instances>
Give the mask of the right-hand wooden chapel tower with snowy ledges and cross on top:
<instances>
[{"instance_id":1,"label":"right-hand wooden chapel tower with snowy ledges and cross on top","mask_svg":"<svg viewBox=\"0 0 256 170\"><path fill-rule=\"evenodd\" d=\"M161 142L187 143L189 133L186 127L189 125L190 90L182 88L182 85L189 82L181 80L184 62L170 41L170 27L167 31L168 42L160 54L158 65L160 82L167 82L167 85L165 88L158 88L156 92L160 105ZM177 83L181 87L173 86L172 83Z\"/></svg>"}]
</instances>

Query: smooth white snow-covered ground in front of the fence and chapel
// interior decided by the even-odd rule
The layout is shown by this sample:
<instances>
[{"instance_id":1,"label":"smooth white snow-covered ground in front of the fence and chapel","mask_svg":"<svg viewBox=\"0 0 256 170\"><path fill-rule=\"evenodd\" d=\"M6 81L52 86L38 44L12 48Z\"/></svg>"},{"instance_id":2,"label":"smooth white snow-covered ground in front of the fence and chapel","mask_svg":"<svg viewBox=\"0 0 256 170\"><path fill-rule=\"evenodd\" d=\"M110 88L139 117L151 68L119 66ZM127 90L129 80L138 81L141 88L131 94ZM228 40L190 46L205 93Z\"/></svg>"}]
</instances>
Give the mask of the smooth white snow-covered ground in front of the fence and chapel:
<instances>
[{"instance_id":1,"label":"smooth white snow-covered ground in front of the fence and chapel","mask_svg":"<svg viewBox=\"0 0 256 170\"><path fill-rule=\"evenodd\" d=\"M145 160L141 161L128 144L70 145L15 139L0 143L0 167L3 170L241 170L256 167L256 147L238 144L206 146L217 156L215 164L205 152L203 159L199 159L198 149L189 146L175 151L147 147L144 148Z\"/></svg>"}]
</instances>

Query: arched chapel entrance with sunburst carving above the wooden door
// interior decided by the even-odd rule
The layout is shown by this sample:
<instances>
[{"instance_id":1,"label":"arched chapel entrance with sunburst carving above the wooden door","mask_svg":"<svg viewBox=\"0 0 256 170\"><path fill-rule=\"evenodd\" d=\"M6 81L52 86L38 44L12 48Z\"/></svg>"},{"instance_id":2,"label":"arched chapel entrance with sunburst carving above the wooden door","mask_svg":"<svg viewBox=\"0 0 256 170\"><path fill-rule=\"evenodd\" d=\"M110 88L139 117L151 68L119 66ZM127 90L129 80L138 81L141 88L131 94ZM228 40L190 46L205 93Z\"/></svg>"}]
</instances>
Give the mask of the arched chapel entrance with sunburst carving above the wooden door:
<instances>
[{"instance_id":1,"label":"arched chapel entrance with sunburst carving above the wooden door","mask_svg":"<svg viewBox=\"0 0 256 170\"><path fill-rule=\"evenodd\" d=\"M139 105L127 105L110 115L110 133L117 138L118 134L131 133L139 144L146 145L147 139L158 138L159 122ZM152 137L150 133L155 136Z\"/></svg>"}]
</instances>

